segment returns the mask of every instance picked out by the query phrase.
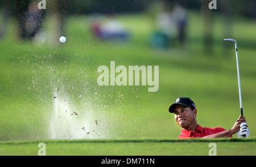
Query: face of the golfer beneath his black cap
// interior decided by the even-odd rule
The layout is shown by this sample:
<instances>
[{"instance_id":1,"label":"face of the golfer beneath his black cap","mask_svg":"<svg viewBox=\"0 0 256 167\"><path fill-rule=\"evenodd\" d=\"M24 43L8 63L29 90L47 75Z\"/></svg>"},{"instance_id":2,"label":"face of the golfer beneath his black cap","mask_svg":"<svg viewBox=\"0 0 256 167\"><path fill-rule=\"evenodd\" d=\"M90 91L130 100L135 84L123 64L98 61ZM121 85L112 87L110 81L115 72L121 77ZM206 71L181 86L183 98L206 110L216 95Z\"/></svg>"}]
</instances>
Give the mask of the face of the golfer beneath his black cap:
<instances>
[{"instance_id":1,"label":"face of the golfer beneath his black cap","mask_svg":"<svg viewBox=\"0 0 256 167\"><path fill-rule=\"evenodd\" d=\"M188 127L195 118L195 114L189 106L177 105L174 111L175 120L180 127Z\"/></svg>"}]
</instances>

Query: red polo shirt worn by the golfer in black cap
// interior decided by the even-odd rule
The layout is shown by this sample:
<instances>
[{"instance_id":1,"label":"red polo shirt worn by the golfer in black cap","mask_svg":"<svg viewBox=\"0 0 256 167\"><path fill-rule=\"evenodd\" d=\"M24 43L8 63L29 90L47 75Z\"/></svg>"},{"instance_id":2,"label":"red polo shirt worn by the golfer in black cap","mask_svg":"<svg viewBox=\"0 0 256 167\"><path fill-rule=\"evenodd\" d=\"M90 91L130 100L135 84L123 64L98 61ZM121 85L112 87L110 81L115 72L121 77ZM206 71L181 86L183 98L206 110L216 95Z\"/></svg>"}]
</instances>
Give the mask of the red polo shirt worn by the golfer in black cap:
<instances>
[{"instance_id":1,"label":"red polo shirt worn by the golfer in black cap","mask_svg":"<svg viewBox=\"0 0 256 167\"><path fill-rule=\"evenodd\" d=\"M218 132L226 131L222 127L201 127L198 125L195 130L181 130L179 139L184 138L203 138L204 136L216 134ZM230 136L232 137L232 136Z\"/></svg>"}]
</instances>

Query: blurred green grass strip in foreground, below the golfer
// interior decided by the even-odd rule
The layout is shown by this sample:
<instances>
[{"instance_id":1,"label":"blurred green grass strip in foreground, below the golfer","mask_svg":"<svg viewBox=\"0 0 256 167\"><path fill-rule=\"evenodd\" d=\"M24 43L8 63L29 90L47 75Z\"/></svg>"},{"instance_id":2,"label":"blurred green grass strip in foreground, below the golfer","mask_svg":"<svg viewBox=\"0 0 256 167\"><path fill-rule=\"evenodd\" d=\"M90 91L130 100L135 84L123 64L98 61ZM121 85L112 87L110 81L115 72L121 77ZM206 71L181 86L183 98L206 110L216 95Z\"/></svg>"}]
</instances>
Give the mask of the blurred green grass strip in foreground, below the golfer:
<instances>
[{"instance_id":1,"label":"blurred green grass strip in foreground, below the golfer","mask_svg":"<svg viewBox=\"0 0 256 167\"><path fill-rule=\"evenodd\" d=\"M256 139L130 139L130 140L28 140L0 142L0 155L38 155L38 144L46 144L46 155L78 156L208 156L210 143L217 155L256 155ZM237 151L237 150L240 151Z\"/></svg>"}]
</instances>

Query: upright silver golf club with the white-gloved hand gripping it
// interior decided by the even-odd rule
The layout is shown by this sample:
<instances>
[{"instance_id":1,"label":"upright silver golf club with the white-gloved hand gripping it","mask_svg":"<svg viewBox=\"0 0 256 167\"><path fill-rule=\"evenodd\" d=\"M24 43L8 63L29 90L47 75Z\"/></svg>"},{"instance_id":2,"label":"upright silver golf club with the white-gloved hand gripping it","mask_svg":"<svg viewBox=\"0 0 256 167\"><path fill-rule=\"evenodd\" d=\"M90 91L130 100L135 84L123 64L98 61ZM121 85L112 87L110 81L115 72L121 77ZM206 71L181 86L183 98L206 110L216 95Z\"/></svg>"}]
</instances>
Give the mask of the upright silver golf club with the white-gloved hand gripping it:
<instances>
[{"instance_id":1,"label":"upright silver golf club with the white-gloved hand gripping it","mask_svg":"<svg viewBox=\"0 0 256 167\"><path fill-rule=\"evenodd\" d=\"M224 41L233 41L235 42L235 49L236 49L236 59L237 59L237 80L238 80L238 91L239 91L239 101L240 101L240 113L243 115L243 107L242 107L242 97L241 97L241 85L240 85L240 73L239 73L239 65L238 65L238 53L237 53L237 41L232 39L232 38L226 38ZM238 136L239 134L243 137L249 136L249 129L245 126L246 123L241 124L240 131L238 131Z\"/></svg>"}]
</instances>

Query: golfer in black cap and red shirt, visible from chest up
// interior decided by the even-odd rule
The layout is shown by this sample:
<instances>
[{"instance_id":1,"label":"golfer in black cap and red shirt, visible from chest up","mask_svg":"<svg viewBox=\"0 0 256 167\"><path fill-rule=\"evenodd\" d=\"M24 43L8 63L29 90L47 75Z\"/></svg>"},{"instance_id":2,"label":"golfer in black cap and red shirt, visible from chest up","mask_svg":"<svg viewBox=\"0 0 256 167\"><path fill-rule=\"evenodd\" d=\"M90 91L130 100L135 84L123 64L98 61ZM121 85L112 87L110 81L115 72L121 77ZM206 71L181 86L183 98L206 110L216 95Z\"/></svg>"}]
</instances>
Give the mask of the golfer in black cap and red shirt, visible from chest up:
<instances>
[{"instance_id":1,"label":"golfer in black cap and red shirt, visible from chest up","mask_svg":"<svg viewBox=\"0 0 256 167\"><path fill-rule=\"evenodd\" d=\"M222 127L201 127L196 122L197 109L195 103L188 97L180 97L169 108L174 113L177 125L181 127L179 138L223 138L232 137L240 130L240 125L246 122L240 115L233 127L225 130ZM246 125L247 127L247 125Z\"/></svg>"}]
</instances>

